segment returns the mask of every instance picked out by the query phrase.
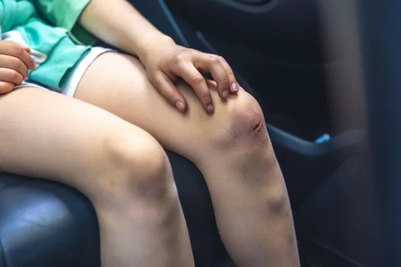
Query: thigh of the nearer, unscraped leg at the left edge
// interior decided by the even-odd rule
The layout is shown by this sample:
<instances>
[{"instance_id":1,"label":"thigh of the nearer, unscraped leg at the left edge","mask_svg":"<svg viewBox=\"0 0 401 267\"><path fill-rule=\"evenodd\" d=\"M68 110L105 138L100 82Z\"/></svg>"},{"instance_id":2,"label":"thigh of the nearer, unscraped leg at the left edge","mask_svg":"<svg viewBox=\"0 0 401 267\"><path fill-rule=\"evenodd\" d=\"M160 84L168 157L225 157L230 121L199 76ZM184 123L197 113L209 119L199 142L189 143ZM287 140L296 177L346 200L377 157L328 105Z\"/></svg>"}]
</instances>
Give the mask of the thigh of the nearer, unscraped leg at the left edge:
<instances>
[{"instance_id":1,"label":"thigh of the nearer, unscraped leg at the left edge","mask_svg":"<svg viewBox=\"0 0 401 267\"><path fill-rule=\"evenodd\" d=\"M107 162L111 136L129 131L138 142L154 140L105 110L32 87L0 97L0 125L0 172L54 179L85 193L106 168L99 162Z\"/></svg>"}]
</instances>

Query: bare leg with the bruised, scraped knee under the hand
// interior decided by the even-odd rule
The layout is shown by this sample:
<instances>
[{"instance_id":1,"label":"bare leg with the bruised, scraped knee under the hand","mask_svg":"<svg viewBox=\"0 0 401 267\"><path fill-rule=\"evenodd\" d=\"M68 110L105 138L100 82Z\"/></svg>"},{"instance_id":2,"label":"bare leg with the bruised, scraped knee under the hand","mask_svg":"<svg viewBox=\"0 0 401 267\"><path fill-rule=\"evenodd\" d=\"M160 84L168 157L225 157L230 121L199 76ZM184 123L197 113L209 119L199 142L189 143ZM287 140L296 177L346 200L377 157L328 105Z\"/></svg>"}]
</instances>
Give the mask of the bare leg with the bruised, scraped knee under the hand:
<instances>
[{"instance_id":1,"label":"bare leg with the bruised, scraped knee under the hand","mask_svg":"<svg viewBox=\"0 0 401 267\"><path fill-rule=\"evenodd\" d=\"M188 101L186 115L162 99L138 60L107 53L88 69L75 97L138 125L198 166L239 266L299 266L285 184L255 99L240 91L223 101L213 91L209 116L186 84L178 88Z\"/></svg>"}]
</instances>

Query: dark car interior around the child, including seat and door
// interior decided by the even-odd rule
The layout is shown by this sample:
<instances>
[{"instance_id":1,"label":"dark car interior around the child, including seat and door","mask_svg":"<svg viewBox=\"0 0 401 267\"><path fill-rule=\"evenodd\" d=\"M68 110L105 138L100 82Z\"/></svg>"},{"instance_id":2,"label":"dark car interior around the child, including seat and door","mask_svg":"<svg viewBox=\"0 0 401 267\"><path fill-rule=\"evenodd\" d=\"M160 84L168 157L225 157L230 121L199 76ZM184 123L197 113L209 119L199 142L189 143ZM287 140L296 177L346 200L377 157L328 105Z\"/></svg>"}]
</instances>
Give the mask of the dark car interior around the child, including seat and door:
<instances>
[{"instance_id":1,"label":"dark car interior around the child, including seat and door","mask_svg":"<svg viewBox=\"0 0 401 267\"><path fill-rule=\"evenodd\" d=\"M260 103L302 267L401 266L401 2L130 2L177 44L223 56ZM167 154L195 265L234 267L202 174ZM0 173L0 267L23 266L100 267L97 218L69 186Z\"/></svg>"}]
</instances>

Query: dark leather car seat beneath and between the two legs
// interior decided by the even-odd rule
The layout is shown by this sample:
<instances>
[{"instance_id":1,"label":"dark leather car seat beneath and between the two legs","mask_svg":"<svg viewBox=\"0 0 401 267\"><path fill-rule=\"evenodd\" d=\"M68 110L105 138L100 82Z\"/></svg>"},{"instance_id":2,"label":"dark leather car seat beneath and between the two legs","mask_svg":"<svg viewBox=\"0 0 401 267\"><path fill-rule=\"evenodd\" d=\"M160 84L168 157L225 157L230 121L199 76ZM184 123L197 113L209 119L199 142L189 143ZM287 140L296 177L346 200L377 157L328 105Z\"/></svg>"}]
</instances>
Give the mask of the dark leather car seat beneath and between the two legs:
<instances>
[{"instance_id":1,"label":"dark leather car seat beneath and between the two legs","mask_svg":"<svg viewBox=\"0 0 401 267\"><path fill-rule=\"evenodd\" d=\"M168 152L196 266L234 266L220 239L206 183ZM89 200L68 186L0 174L0 267L100 267L99 229Z\"/></svg>"}]
</instances>

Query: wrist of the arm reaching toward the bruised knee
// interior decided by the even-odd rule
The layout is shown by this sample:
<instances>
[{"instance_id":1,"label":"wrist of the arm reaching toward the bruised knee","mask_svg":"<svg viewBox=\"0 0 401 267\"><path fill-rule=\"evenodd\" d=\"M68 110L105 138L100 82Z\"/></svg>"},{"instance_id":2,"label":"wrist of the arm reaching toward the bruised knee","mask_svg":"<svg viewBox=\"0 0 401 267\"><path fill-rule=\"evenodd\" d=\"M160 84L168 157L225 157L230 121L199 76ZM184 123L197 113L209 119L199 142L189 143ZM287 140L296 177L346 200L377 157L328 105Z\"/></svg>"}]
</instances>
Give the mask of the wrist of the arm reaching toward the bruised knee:
<instances>
[{"instance_id":1,"label":"wrist of the arm reaching toward the bruised knee","mask_svg":"<svg viewBox=\"0 0 401 267\"><path fill-rule=\"evenodd\" d=\"M143 38L138 44L136 55L142 64L145 64L147 59L153 54L157 53L158 50L172 45L175 45L174 40L164 34Z\"/></svg>"}]
</instances>

